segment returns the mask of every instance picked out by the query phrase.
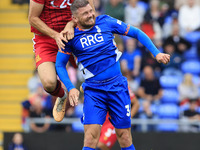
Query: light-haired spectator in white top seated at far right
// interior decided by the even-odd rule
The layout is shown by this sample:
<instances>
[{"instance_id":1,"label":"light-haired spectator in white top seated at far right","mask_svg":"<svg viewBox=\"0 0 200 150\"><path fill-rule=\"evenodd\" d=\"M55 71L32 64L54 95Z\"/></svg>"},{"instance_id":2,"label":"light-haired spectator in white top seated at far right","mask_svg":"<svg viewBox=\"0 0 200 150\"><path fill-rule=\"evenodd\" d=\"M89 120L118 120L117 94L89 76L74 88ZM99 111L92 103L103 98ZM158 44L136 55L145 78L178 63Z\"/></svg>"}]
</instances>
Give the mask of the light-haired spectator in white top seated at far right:
<instances>
[{"instance_id":1,"label":"light-haired spectator in white top seated at far right","mask_svg":"<svg viewBox=\"0 0 200 150\"><path fill-rule=\"evenodd\" d=\"M190 99L198 99L198 87L192 81L192 74L185 74L183 82L178 86L180 105L186 104Z\"/></svg>"}]
</instances>

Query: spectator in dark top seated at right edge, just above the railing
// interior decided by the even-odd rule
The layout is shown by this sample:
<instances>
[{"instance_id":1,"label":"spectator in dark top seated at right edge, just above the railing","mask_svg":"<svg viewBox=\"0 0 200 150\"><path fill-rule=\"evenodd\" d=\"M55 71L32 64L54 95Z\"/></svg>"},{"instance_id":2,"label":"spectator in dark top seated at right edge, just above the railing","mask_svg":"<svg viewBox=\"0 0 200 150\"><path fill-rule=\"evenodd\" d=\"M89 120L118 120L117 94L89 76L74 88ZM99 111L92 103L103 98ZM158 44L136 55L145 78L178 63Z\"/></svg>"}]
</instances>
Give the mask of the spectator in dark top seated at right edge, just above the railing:
<instances>
[{"instance_id":1,"label":"spectator in dark top seated at right edge, just above the railing","mask_svg":"<svg viewBox=\"0 0 200 150\"><path fill-rule=\"evenodd\" d=\"M189 108L183 112L183 119L192 120L192 121L200 121L200 113L198 112L198 104L197 99L189 99ZM199 125L184 125L183 130L186 132L199 132Z\"/></svg>"}]
</instances>

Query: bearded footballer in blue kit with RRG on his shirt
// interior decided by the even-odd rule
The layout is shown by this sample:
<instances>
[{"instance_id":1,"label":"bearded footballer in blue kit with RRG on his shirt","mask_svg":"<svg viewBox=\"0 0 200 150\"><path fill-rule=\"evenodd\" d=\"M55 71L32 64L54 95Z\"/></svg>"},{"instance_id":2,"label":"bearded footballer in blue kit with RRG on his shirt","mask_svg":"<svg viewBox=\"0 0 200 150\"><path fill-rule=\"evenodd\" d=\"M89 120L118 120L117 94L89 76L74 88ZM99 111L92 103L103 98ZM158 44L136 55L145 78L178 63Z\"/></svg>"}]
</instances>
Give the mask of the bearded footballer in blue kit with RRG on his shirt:
<instances>
[{"instance_id":1,"label":"bearded footballer in blue kit with RRG on his shirt","mask_svg":"<svg viewBox=\"0 0 200 150\"><path fill-rule=\"evenodd\" d=\"M75 0L71 5L73 20L77 23L74 38L65 43L57 54L56 70L69 92L72 106L77 103L79 91L71 83L66 70L70 54L77 58L77 65L85 82L83 124L84 150L95 149L101 125L109 112L110 121L122 150L134 150L130 132L130 96L127 79L120 71L122 53L116 47L113 34L136 38L154 55L158 62L167 64L168 54L160 53L141 30L107 15L95 17L87 0Z\"/></svg>"}]
</instances>

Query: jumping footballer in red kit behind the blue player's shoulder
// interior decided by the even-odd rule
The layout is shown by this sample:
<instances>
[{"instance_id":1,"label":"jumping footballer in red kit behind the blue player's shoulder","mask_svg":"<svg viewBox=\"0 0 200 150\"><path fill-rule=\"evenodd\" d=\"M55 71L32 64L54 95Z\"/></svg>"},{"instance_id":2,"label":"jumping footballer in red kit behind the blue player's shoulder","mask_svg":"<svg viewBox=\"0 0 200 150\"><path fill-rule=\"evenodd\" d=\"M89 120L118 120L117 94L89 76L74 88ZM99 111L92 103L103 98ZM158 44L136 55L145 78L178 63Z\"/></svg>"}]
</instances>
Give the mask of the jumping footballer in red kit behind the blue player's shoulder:
<instances>
[{"instance_id":1,"label":"jumping footballer in red kit behind the blue player's shoulder","mask_svg":"<svg viewBox=\"0 0 200 150\"><path fill-rule=\"evenodd\" d=\"M94 9L93 0L88 0ZM64 48L64 42L74 37L74 22L70 6L73 0L30 0L29 23L34 33L33 47L38 75L43 88L56 99L53 116L58 122L65 115L67 92L57 79L55 62L59 49ZM73 57L71 64L75 67ZM69 98L71 106L78 104L78 99Z\"/></svg>"}]
</instances>

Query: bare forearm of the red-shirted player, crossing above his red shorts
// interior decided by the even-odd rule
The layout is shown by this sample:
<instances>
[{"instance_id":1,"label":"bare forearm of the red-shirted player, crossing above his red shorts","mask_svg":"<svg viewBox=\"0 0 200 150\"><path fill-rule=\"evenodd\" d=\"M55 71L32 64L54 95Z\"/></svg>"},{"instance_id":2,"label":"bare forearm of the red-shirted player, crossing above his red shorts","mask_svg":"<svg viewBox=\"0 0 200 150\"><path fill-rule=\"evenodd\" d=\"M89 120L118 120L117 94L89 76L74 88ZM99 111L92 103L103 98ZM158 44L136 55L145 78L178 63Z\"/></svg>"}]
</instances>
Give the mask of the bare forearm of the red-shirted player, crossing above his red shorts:
<instances>
[{"instance_id":1,"label":"bare forearm of the red-shirted player, crossing above his red shorts","mask_svg":"<svg viewBox=\"0 0 200 150\"><path fill-rule=\"evenodd\" d=\"M58 34L57 31L48 27L39 17L30 17L29 22L31 26L51 38L55 38L56 34Z\"/></svg>"}]
</instances>

